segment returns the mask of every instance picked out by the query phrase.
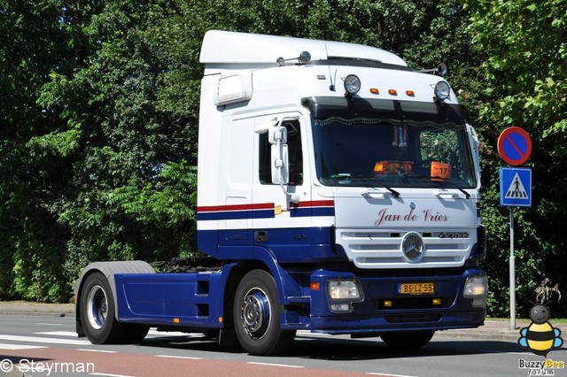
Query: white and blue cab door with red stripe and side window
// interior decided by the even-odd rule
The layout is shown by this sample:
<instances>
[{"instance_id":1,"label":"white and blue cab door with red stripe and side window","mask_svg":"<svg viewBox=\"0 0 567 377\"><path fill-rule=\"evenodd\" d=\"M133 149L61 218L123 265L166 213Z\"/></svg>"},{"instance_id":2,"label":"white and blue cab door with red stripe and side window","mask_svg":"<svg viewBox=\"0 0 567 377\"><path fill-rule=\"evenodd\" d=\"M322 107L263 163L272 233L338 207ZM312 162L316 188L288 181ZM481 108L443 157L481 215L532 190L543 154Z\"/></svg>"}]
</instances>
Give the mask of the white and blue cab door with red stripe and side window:
<instances>
[{"instance_id":1,"label":"white and blue cab door with red stripe and side window","mask_svg":"<svg viewBox=\"0 0 567 377\"><path fill-rule=\"evenodd\" d=\"M283 155L274 148L269 127L285 128ZM307 258L312 241L311 188L306 153L306 122L299 112L258 117L254 140L252 228L254 245L267 248L278 261ZM283 157L283 182L275 170Z\"/></svg>"}]
</instances>

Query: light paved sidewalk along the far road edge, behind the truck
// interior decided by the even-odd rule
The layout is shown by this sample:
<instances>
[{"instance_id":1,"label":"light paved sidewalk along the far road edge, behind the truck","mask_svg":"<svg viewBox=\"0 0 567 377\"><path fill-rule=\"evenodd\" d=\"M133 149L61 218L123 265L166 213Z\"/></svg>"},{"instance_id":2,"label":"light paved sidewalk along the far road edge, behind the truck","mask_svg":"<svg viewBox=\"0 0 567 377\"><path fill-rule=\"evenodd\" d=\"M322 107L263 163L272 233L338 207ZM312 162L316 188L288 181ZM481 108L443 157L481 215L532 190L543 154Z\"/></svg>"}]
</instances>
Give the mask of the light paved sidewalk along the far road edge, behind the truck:
<instances>
[{"instance_id":1,"label":"light paved sidewalk along the far road edge, behind the truck","mask_svg":"<svg viewBox=\"0 0 567 377\"><path fill-rule=\"evenodd\" d=\"M0 302L0 315L73 317L74 304L39 304L23 301ZM553 319L549 322L553 325ZM493 341L517 342L520 328L530 325L528 320L517 320L512 329L509 319L486 319L485 325L477 328L439 331L436 337L458 339L486 339ZM555 326L562 335L567 334L567 326Z\"/></svg>"}]
</instances>

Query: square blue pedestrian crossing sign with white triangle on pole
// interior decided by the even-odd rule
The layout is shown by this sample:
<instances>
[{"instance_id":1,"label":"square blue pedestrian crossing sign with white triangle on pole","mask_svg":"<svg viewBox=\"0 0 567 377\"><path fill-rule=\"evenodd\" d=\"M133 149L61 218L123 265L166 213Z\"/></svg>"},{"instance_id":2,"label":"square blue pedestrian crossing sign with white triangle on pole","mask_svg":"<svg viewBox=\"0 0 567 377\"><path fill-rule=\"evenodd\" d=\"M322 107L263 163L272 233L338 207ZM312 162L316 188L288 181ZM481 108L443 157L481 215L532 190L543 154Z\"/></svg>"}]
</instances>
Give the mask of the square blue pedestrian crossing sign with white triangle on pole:
<instances>
[{"instance_id":1,"label":"square blue pedestrian crossing sign with white triangle on pole","mask_svg":"<svg viewBox=\"0 0 567 377\"><path fill-rule=\"evenodd\" d=\"M532 169L500 168L500 205L532 206Z\"/></svg>"}]
</instances>

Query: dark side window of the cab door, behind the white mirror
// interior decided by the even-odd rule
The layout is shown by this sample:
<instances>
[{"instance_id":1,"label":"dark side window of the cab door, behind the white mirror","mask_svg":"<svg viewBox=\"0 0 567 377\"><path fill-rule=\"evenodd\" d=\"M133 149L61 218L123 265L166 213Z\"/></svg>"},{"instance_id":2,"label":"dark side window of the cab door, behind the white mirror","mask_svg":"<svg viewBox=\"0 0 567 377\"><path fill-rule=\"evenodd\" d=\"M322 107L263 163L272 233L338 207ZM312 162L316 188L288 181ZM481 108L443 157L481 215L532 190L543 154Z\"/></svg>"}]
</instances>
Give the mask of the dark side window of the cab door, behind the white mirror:
<instances>
[{"instance_id":1,"label":"dark side window of the cab door, behind the white mirror","mask_svg":"<svg viewBox=\"0 0 567 377\"><path fill-rule=\"evenodd\" d=\"M290 185L303 183L303 150L301 149L301 132L298 119L284 119L283 127L287 128L287 148L290 162ZM272 184L271 144L268 133L260 135L260 183Z\"/></svg>"}]
</instances>

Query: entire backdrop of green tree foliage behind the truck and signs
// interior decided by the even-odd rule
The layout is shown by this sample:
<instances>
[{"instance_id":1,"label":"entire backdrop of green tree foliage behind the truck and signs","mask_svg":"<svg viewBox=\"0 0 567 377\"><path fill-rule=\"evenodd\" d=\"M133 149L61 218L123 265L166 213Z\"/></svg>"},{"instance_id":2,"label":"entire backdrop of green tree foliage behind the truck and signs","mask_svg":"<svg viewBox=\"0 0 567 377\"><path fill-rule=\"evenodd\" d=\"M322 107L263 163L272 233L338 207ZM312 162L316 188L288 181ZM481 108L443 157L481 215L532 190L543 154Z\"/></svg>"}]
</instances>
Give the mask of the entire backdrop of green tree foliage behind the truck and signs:
<instances>
[{"instance_id":1,"label":"entire backdrop of green tree foliage behind the truck and signs","mask_svg":"<svg viewBox=\"0 0 567 377\"><path fill-rule=\"evenodd\" d=\"M447 63L482 141L490 312L508 307L495 146L512 124L534 142L535 205L516 222L520 304L557 298L566 11L540 0L0 0L0 296L66 301L90 261L197 251L198 55L206 31L223 29L359 42L415 69Z\"/></svg>"}]
</instances>

